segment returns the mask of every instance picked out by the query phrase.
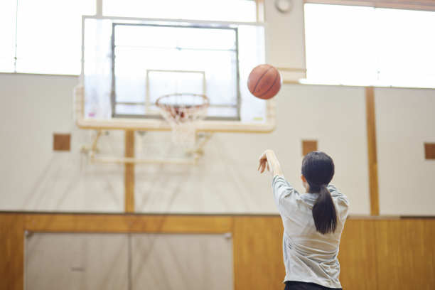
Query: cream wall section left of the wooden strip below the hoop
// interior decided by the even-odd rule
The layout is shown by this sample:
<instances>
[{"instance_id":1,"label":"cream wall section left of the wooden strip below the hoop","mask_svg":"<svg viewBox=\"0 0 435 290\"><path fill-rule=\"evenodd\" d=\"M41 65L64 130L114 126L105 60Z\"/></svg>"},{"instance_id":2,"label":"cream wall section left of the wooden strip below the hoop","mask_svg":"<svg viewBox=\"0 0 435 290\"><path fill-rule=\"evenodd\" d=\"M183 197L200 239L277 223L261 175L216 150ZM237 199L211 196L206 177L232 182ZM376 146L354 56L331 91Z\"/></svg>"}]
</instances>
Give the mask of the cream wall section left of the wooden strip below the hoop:
<instances>
[{"instance_id":1,"label":"cream wall section left of the wooden strip below the hoop","mask_svg":"<svg viewBox=\"0 0 435 290\"><path fill-rule=\"evenodd\" d=\"M76 84L77 77L0 74L1 210L123 210L123 166L89 164L80 154L92 132L73 124ZM54 132L72 134L70 152L53 151ZM105 151L123 154L119 134L105 137Z\"/></svg>"}]
</instances>

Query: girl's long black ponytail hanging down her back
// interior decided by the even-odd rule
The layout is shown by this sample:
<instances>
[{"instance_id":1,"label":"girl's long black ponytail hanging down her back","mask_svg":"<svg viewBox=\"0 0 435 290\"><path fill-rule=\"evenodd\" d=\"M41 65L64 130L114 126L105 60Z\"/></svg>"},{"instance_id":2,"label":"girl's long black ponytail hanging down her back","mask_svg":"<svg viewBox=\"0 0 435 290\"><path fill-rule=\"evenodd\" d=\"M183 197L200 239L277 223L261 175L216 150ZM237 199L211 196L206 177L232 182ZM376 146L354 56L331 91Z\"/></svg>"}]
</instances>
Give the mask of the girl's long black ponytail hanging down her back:
<instances>
[{"instance_id":1,"label":"girl's long black ponytail hanging down her back","mask_svg":"<svg viewBox=\"0 0 435 290\"><path fill-rule=\"evenodd\" d=\"M337 213L335 205L326 185L319 187L318 198L313 205L313 219L316 230L325 235L329 232L335 232L337 227Z\"/></svg>"}]
</instances>

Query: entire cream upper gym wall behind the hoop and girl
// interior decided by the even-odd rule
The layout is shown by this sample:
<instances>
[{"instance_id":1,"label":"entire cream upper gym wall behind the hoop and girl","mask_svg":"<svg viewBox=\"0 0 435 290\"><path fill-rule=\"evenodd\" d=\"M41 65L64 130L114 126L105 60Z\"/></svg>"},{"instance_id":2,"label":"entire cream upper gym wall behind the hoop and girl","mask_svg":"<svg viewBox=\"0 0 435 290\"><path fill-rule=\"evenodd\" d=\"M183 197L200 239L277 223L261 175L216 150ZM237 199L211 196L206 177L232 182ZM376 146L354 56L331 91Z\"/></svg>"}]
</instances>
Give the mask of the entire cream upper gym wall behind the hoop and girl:
<instances>
[{"instance_id":1,"label":"entire cream upper gym wall behind the hoop and girl","mask_svg":"<svg viewBox=\"0 0 435 290\"><path fill-rule=\"evenodd\" d=\"M303 1L294 1L289 14L277 12L273 2L264 3L267 61L304 70ZM124 166L89 163L80 153L95 132L73 124L77 82L73 76L0 74L0 210L124 212ZM434 100L435 90L375 90L381 214L435 213L429 208L435 163L424 159L424 142L435 138ZM350 214L368 215L365 89L286 84L276 102L272 134L215 134L198 166L136 166L136 211L276 214L271 179L256 171L259 154L274 149L286 177L302 190L301 142L316 140L336 163L333 183L349 196ZM53 151L54 133L71 134L70 151ZM122 156L124 132L110 131L99 147ZM414 198L416 192L422 198Z\"/></svg>"}]
</instances>

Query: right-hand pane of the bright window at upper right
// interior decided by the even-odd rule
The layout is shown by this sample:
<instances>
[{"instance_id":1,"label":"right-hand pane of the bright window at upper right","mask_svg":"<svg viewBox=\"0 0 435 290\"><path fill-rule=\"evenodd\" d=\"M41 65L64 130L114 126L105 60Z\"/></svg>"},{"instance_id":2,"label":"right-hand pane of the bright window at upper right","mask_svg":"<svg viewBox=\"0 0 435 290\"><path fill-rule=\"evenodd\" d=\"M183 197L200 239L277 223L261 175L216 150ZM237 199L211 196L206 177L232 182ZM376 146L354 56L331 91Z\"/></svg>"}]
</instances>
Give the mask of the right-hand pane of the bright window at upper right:
<instances>
[{"instance_id":1,"label":"right-hand pane of the bright window at upper right","mask_svg":"<svg viewBox=\"0 0 435 290\"><path fill-rule=\"evenodd\" d=\"M378 81L435 87L435 12L376 9Z\"/></svg>"}]
</instances>

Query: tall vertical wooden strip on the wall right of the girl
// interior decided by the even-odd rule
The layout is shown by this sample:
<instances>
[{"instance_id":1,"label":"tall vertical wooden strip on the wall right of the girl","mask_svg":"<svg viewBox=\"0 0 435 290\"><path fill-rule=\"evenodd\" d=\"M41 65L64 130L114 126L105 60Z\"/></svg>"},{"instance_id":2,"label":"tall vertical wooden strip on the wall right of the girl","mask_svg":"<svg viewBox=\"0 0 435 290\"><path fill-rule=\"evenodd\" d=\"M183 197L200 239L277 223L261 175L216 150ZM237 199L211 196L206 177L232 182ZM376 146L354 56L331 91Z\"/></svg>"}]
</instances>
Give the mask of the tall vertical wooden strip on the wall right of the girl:
<instances>
[{"instance_id":1,"label":"tall vertical wooden strip on the wall right of the girl","mask_svg":"<svg viewBox=\"0 0 435 290\"><path fill-rule=\"evenodd\" d=\"M367 151L370 188L370 215L379 215L379 186L377 177L375 88L365 88L365 116L367 121Z\"/></svg>"}]
</instances>

